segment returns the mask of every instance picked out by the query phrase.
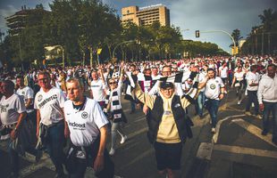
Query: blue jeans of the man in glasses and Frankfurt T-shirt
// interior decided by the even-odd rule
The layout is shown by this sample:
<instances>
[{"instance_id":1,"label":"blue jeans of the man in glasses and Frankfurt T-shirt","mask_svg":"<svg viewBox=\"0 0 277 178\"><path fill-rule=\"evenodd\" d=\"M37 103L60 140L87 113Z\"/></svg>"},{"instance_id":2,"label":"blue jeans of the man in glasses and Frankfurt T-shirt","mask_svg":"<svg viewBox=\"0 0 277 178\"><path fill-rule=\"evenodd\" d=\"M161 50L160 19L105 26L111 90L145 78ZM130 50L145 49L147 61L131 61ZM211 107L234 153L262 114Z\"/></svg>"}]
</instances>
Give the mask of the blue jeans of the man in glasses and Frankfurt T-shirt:
<instances>
[{"instance_id":1,"label":"blue jeans of the man in glasses and Frankfurt T-shirt","mask_svg":"<svg viewBox=\"0 0 277 178\"><path fill-rule=\"evenodd\" d=\"M48 137L46 142L46 150L55 165L55 171L57 174L63 174L64 153L63 145L65 143L64 138L64 123L60 121L57 125L53 125L48 128Z\"/></svg>"}]
</instances>

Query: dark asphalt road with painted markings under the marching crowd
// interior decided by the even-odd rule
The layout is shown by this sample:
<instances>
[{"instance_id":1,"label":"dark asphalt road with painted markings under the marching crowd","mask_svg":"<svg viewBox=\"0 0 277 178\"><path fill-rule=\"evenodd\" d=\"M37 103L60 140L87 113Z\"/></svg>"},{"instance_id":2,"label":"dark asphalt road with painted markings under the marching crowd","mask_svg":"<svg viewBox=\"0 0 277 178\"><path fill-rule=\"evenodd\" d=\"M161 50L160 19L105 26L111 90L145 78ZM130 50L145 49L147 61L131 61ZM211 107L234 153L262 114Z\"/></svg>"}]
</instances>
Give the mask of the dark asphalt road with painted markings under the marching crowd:
<instances>
[{"instance_id":1,"label":"dark asphalt road with painted markings under the marching crowd","mask_svg":"<svg viewBox=\"0 0 277 178\"><path fill-rule=\"evenodd\" d=\"M115 174L124 178L158 178L155 153L147 141L147 122L141 111L130 114L130 102L122 101L128 117L124 131L128 140L120 144L113 156ZM237 105L234 92L221 102L217 133L211 134L209 116L194 117L194 107L189 115L194 122L193 138L183 146L180 176L188 178L274 178L277 177L277 146L271 142L272 132L261 135L262 120L244 115L245 100ZM107 149L110 143L108 141ZM0 177L10 173L4 142L0 144ZM28 154L21 158L21 177L54 177L54 166L48 156L36 163ZM94 177L88 168L86 177Z\"/></svg>"}]
</instances>

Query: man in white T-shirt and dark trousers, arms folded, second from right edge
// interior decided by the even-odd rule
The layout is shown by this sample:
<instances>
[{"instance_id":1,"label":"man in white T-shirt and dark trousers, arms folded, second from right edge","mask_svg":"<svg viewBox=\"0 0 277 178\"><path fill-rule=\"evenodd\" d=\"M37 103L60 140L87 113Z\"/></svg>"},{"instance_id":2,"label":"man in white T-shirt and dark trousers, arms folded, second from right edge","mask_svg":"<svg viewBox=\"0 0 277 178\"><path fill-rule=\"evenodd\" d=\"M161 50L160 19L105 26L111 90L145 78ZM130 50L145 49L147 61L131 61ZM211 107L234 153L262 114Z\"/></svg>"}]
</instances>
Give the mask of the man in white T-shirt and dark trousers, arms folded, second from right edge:
<instances>
[{"instance_id":1,"label":"man in white T-shirt and dark trousers, arms folded, second from right edge","mask_svg":"<svg viewBox=\"0 0 277 178\"><path fill-rule=\"evenodd\" d=\"M256 72L257 71L257 66L253 65L250 68L250 72L247 74L247 81L248 81L248 86L247 86L247 92L248 92L248 100L247 100L247 105L246 105L246 112L245 114L250 116L250 107L252 102L254 102L255 106L255 115L258 118L262 118L259 116L259 106L257 102L257 88L259 85L259 74Z\"/></svg>"}]
</instances>

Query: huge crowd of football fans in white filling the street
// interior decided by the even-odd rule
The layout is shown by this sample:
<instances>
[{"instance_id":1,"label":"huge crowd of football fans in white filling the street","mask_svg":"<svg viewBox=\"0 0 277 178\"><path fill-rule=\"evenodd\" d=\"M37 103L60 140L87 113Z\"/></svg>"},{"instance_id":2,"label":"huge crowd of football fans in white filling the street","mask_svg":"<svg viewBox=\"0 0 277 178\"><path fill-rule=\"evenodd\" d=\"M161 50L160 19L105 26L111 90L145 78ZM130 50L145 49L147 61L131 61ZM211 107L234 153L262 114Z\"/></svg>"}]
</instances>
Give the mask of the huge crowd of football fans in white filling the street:
<instances>
[{"instance_id":1,"label":"huge crowd of football fans in white filling the street","mask_svg":"<svg viewBox=\"0 0 277 178\"><path fill-rule=\"evenodd\" d=\"M56 177L65 176L63 165L69 177L84 177L87 166L94 168L97 177L113 177L110 157L116 154L117 134L121 144L128 139L123 128L127 123L123 97L130 100L130 114L138 108L145 113L158 172L171 178L178 177L182 143L192 136L189 104L195 105L200 119L204 109L208 111L211 133L215 134L220 101L231 88L235 88L238 105L245 102L247 116L252 115L254 104L253 114L263 119L261 134L268 134L273 127L277 145L276 64L277 58L272 56L214 56L49 67L18 74L3 71L1 142L8 145L11 176L19 176L21 152L31 150L39 161L41 151L46 150ZM33 131L28 132L25 125ZM36 150L28 148L34 144L22 136L26 132L29 138L35 137L30 140ZM65 143L67 152L63 151Z\"/></svg>"}]
</instances>

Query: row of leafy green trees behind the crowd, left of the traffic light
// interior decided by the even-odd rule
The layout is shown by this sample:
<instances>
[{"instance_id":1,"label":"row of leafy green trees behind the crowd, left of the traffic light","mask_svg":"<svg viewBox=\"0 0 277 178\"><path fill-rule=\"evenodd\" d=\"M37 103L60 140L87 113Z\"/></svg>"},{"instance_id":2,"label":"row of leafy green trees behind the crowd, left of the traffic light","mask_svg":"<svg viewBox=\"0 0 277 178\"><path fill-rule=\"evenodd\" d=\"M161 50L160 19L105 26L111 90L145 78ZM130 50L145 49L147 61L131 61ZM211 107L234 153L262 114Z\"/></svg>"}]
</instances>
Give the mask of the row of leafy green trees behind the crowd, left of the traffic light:
<instances>
[{"instance_id":1,"label":"row of leafy green trees behind the crowd, left of the traffic light","mask_svg":"<svg viewBox=\"0 0 277 178\"><path fill-rule=\"evenodd\" d=\"M111 59L113 51L121 59L136 60L180 58L183 52L191 56L219 53L210 43L183 42L180 28L161 26L158 22L138 27L133 23L121 25L113 8L100 0L54 0L51 11L42 4L26 19L26 28L19 36L7 36L0 48L0 56L20 65L21 61L41 63L44 47L62 46L68 65L88 64L95 59L95 51L103 48L102 59ZM132 40L135 43L122 43ZM21 47L21 49L20 49ZM61 59L59 59L61 60Z\"/></svg>"}]
</instances>

